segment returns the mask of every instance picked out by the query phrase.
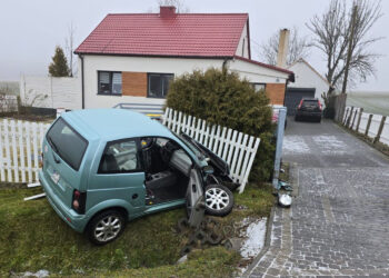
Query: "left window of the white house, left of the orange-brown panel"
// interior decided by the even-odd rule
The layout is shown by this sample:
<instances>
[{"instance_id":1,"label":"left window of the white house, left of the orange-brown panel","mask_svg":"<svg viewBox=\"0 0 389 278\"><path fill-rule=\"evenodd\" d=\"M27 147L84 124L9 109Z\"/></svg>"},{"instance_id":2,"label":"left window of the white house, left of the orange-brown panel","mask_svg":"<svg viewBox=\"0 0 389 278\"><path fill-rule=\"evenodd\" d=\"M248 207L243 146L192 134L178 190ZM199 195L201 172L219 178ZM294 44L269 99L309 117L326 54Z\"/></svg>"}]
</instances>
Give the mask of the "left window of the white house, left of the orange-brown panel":
<instances>
[{"instance_id":1,"label":"left window of the white house, left of the orange-brown panel","mask_svg":"<svg viewBox=\"0 0 389 278\"><path fill-rule=\"evenodd\" d=\"M98 71L99 95L121 95L121 72Z\"/></svg>"}]
</instances>

